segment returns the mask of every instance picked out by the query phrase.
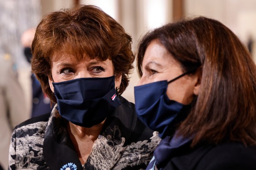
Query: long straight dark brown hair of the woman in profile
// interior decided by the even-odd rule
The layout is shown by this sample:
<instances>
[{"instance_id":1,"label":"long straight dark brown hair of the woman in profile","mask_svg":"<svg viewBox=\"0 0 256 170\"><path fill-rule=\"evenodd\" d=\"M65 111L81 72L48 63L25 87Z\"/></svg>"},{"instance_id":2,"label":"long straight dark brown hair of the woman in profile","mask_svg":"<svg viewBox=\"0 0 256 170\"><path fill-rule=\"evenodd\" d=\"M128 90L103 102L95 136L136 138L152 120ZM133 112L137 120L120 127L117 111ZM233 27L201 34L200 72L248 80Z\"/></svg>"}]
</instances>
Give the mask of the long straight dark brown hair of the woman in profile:
<instances>
[{"instance_id":1,"label":"long straight dark brown hair of the woman in profile","mask_svg":"<svg viewBox=\"0 0 256 170\"><path fill-rule=\"evenodd\" d=\"M238 37L219 21L198 17L149 32L139 44L137 67L154 39L183 71L201 68L201 87L178 134L199 142L256 145L256 66Z\"/></svg>"}]
</instances>

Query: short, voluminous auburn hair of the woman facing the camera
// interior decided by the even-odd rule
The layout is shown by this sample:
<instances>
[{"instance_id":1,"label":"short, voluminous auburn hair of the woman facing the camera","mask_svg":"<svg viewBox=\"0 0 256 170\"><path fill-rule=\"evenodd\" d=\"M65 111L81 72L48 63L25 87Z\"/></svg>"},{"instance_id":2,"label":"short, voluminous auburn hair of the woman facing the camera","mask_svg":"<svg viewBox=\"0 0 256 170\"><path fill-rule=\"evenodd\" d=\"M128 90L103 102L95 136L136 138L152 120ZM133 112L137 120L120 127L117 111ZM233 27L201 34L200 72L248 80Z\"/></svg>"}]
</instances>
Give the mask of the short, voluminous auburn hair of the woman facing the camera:
<instances>
[{"instance_id":1,"label":"short, voluminous auburn hair of the woman facing the camera","mask_svg":"<svg viewBox=\"0 0 256 170\"><path fill-rule=\"evenodd\" d=\"M36 29L32 44L32 71L39 79L43 91L56 103L51 92L51 58L64 51L82 60L113 62L114 73L122 74L118 93L122 94L129 83L128 74L135 59L131 49L132 38L124 28L101 9L91 5L63 9L46 15Z\"/></svg>"}]
</instances>

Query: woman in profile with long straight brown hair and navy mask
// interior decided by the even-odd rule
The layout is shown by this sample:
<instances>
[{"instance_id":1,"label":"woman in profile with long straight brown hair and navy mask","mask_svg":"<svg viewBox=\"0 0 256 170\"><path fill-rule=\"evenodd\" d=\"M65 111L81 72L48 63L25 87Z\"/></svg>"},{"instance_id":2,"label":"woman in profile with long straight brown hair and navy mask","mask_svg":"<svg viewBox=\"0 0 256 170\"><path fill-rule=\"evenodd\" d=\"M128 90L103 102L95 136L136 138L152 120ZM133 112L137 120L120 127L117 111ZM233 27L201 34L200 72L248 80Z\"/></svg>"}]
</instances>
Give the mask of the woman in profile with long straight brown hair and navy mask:
<instances>
[{"instance_id":1,"label":"woman in profile with long straight brown hair and navy mask","mask_svg":"<svg viewBox=\"0 0 256 170\"><path fill-rule=\"evenodd\" d=\"M138 117L163 138L147 169L256 169L256 65L236 35L199 17L139 44Z\"/></svg>"}]
</instances>

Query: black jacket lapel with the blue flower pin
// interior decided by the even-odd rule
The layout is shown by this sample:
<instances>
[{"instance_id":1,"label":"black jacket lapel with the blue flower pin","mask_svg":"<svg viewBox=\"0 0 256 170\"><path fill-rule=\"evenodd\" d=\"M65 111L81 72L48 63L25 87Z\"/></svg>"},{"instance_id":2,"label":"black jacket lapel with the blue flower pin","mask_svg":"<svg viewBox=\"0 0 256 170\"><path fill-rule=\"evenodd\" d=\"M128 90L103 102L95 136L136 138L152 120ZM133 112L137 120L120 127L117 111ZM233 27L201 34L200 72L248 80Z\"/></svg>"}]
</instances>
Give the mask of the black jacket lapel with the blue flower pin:
<instances>
[{"instance_id":1,"label":"black jacket lapel with the blue flower pin","mask_svg":"<svg viewBox=\"0 0 256 170\"><path fill-rule=\"evenodd\" d=\"M56 108L56 106L55 106ZM83 170L71 139L66 129L65 121L53 109L44 136L43 155L45 162L52 170Z\"/></svg>"}]
</instances>

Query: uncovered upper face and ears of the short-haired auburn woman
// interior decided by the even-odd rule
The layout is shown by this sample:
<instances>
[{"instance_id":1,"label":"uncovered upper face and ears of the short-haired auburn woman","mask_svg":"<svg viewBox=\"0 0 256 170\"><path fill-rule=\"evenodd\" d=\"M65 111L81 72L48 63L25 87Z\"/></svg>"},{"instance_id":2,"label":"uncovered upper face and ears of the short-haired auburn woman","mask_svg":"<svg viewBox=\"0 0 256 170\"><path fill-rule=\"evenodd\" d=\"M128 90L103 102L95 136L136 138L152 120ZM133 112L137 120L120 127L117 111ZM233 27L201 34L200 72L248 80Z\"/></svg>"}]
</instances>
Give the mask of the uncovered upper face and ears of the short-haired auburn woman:
<instances>
[{"instance_id":1,"label":"uncovered upper face and ears of the short-haired auburn woman","mask_svg":"<svg viewBox=\"0 0 256 170\"><path fill-rule=\"evenodd\" d=\"M104 78L114 75L113 63L111 60L99 61L96 59L77 60L67 53L55 53L51 60L51 74L49 84L54 92L52 82L73 80L76 78ZM52 80L53 79L53 80ZM116 76L115 86L121 84L121 75Z\"/></svg>"}]
</instances>

